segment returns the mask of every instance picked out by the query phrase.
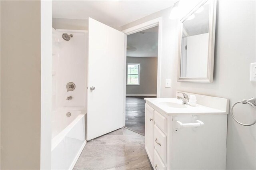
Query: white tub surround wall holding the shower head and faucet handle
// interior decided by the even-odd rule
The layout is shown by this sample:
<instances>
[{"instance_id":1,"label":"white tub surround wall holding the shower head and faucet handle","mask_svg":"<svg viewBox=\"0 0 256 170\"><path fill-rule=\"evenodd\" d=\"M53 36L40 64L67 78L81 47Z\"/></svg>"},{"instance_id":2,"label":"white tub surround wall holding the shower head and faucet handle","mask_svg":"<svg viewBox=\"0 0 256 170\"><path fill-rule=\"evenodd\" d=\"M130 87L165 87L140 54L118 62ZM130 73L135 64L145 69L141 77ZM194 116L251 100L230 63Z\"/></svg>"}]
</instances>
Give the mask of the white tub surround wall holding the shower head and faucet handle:
<instances>
[{"instance_id":1,"label":"white tub surround wall holding the shower head and faucet handle","mask_svg":"<svg viewBox=\"0 0 256 170\"><path fill-rule=\"evenodd\" d=\"M63 40L62 33L73 34L69 42ZM87 87L87 32L57 30L54 34L53 57L53 95L55 95L56 108L76 107L86 109ZM67 91L66 84L73 82L76 85L74 91ZM71 100L66 100L72 96Z\"/></svg>"}]
</instances>

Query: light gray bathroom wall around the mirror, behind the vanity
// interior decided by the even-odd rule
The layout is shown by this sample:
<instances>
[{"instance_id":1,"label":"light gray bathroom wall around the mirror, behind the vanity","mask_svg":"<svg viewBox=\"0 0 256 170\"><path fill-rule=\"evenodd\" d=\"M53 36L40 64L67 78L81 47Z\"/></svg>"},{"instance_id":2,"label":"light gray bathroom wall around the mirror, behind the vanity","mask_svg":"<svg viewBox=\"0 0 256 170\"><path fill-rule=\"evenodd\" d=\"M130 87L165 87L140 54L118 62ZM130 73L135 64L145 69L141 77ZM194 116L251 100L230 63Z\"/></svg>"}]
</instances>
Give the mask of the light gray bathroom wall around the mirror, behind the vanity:
<instances>
[{"instance_id":1,"label":"light gray bathroom wall around the mirror, behind the vanity","mask_svg":"<svg viewBox=\"0 0 256 170\"><path fill-rule=\"evenodd\" d=\"M228 9L228 10L227 10ZM256 62L256 2L226 0L217 2L216 43L213 83L177 82L178 20L169 20L166 9L122 27L127 29L154 18L163 17L161 97L175 97L177 90L230 99L230 107L242 99L256 96L256 84L250 82L250 63ZM171 78L171 88L164 79ZM238 105L236 116L249 123L255 111ZM239 116L241 115L241 116ZM256 125L244 127L228 115L227 169L256 169Z\"/></svg>"}]
</instances>

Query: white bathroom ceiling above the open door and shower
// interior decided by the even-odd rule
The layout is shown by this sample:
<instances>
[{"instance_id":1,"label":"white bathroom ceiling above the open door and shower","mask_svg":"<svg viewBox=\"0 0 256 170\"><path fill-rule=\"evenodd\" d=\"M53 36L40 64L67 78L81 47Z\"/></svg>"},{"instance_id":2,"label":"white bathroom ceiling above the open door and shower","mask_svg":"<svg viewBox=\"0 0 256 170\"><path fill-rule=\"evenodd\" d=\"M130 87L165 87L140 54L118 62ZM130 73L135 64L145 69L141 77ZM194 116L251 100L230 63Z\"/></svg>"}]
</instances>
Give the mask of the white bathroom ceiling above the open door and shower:
<instances>
[{"instance_id":1,"label":"white bathroom ceiling above the open door and shower","mask_svg":"<svg viewBox=\"0 0 256 170\"><path fill-rule=\"evenodd\" d=\"M124 26L154 12L173 6L174 0L53 0L52 18L88 17L108 26Z\"/></svg>"}]
</instances>

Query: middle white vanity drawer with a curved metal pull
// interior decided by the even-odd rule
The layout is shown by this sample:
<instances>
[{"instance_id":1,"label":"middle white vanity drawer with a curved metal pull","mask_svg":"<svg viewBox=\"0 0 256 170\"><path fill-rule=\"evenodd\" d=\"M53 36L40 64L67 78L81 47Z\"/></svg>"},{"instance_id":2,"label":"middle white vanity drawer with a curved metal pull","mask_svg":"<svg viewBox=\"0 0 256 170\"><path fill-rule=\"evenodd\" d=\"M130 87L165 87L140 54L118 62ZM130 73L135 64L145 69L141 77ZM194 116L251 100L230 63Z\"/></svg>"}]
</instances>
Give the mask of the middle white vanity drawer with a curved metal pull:
<instances>
[{"instance_id":1,"label":"middle white vanity drawer with a curved metal pull","mask_svg":"<svg viewBox=\"0 0 256 170\"><path fill-rule=\"evenodd\" d=\"M154 125L154 146L165 164L167 156L166 143L166 135L164 134L164 132L162 132L162 130L160 130L160 128L157 125Z\"/></svg>"}]
</instances>

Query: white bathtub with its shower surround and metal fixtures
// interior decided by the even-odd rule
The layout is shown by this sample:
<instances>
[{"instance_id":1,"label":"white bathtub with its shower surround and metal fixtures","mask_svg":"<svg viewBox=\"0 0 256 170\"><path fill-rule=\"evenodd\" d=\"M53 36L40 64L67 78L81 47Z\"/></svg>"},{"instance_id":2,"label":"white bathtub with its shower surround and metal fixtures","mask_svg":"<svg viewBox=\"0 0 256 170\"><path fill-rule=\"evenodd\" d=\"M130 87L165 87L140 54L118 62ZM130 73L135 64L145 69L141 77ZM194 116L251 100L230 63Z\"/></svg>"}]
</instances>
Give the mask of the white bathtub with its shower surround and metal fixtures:
<instances>
[{"instance_id":1,"label":"white bathtub with its shower surround and metal fixtures","mask_svg":"<svg viewBox=\"0 0 256 170\"><path fill-rule=\"evenodd\" d=\"M52 169L72 169L86 144L87 32L52 29Z\"/></svg>"}]
</instances>

